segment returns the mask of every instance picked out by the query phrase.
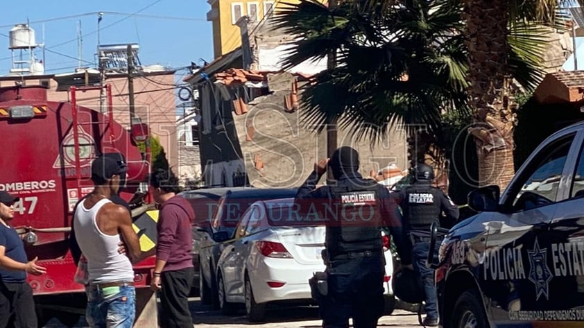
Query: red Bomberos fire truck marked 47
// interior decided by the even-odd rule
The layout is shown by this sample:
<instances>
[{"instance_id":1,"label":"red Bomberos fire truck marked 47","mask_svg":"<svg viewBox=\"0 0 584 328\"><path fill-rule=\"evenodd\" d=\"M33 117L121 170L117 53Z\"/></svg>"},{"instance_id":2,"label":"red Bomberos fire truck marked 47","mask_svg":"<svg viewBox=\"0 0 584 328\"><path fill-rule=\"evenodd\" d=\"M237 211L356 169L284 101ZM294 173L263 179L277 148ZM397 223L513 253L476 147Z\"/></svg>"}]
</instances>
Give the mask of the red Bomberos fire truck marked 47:
<instances>
[{"instance_id":1,"label":"red Bomberos fire truck marked 47","mask_svg":"<svg viewBox=\"0 0 584 328\"><path fill-rule=\"evenodd\" d=\"M80 92L100 90L107 111L77 104ZM69 250L72 209L92 191L91 162L100 153L123 153L128 162L128 185L121 197L130 202L132 218L155 220L148 213L144 181L150 169L148 155L137 141L148 137L145 124L128 131L114 121L110 85L71 87L70 101L47 100L42 86L0 88L0 191L20 197L12 224L25 236L30 259L46 267L46 275L30 276L40 322L52 317L73 325L85 311L83 285L74 282L76 266ZM152 225L151 225L152 226ZM148 233L141 245L153 247ZM146 243L142 243L146 239ZM137 322L135 327L155 327L155 295L149 291L154 260L135 266ZM140 288L144 287L144 288Z\"/></svg>"}]
</instances>

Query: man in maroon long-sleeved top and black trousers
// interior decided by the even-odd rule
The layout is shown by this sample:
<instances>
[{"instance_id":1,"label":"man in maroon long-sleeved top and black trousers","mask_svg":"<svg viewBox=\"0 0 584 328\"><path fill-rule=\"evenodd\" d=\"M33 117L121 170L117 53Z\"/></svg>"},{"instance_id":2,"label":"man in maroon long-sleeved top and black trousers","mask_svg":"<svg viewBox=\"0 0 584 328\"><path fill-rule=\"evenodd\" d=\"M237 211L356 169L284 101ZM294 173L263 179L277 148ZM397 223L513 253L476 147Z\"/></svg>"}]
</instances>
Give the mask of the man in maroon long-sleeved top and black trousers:
<instances>
[{"instance_id":1,"label":"man in maroon long-sleeved top and black trousers","mask_svg":"<svg viewBox=\"0 0 584 328\"><path fill-rule=\"evenodd\" d=\"M170 170L155 171L150 176L158 214L156 266L151 288L161 290L163 328L193 327L189 311L189 291L195 275L191 250L191 222L195 212L178 193L178 179Z\"/></svg>"}]
</instances>

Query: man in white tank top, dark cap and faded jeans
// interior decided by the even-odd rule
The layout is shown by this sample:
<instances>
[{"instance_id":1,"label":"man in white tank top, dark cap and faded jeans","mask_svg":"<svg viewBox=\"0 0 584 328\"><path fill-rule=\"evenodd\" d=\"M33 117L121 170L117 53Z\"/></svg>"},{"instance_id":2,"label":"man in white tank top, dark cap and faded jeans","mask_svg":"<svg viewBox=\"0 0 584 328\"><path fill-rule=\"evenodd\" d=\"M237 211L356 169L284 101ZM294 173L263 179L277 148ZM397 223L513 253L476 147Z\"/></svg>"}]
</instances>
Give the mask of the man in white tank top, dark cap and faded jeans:
<instances>
[{"instance_id":1,"label":"man in white tank top, dark cap and faded jeans","mask_svg":"<svg viewBox=\"0 0 584 328\"><path fill-rule=\"evenodd\" d=\"M140 245L128 210L108 200L119 190L120 175L127 170L126 163L112 157L94 159L95 189L75 212L75 237L89 271L85 316L92 328L131 328L134 323L132 263L140 260ZM126 254L120 254L120 242Z\"/></svg>"}]
</instances>

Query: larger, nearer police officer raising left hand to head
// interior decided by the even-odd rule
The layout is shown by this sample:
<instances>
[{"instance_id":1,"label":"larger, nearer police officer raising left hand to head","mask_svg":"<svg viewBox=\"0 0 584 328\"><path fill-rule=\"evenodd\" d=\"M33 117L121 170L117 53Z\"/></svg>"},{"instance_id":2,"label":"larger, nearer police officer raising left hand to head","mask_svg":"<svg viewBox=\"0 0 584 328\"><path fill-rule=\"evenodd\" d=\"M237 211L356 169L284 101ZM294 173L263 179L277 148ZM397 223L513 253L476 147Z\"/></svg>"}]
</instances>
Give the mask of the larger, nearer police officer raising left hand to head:
<instances>
[{"instance_id":1,"label":"larger, nearer police officer raising left hand to head","mask_svg":"<svg viewBox=\"0 0 584 328\"><path fill-rule=\"evenodd\" d=\"M327 166L336 183L316 189ZM395 215L395 200L381 184L363 179L358 170L357 150L338 148L329 160L315 164L296 195L302 209L329 205L329 210L320 209L327 223L323 252L327 295L318 300L325 328L347 328L349 318L354 328L377 327L384 310L381 225L390 228L404 265L411 259L411 244Z\"/></svg>"}]
</instances>

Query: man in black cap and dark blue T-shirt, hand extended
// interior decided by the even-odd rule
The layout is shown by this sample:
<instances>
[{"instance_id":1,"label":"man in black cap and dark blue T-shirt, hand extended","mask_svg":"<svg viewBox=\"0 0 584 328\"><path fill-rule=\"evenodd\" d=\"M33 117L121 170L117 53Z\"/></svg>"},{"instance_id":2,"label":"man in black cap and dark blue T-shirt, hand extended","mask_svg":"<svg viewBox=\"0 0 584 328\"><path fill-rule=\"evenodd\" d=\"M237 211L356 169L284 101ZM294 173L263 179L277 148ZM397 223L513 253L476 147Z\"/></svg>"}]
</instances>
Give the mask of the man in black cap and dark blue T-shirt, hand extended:
<instances>
[{"instance_id":1,"label":"man in black cap and dark blue T-shirt, hand extended","mask_svg":"<svg viewBox=\"0 0 584 328\"><path fill-rule=\"evenodd\" d=\"M37 257L28 261L24 243L10 225L14 203L18 197L0 191L0 328L37 328L33 290L26 273L42 275L46 269L37 266Z\"/></svg>"}]
</instances>

